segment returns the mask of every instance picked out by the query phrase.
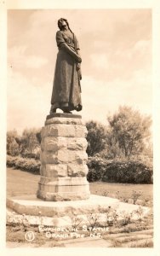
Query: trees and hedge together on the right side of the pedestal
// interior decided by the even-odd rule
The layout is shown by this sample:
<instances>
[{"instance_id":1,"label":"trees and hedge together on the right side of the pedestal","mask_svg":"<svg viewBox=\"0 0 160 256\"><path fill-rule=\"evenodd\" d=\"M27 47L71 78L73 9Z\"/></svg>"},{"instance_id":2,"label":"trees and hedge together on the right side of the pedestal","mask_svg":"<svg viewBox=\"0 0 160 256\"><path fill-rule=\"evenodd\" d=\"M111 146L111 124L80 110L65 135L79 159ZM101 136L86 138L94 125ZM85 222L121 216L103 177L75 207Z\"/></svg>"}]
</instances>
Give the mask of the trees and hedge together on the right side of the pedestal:
<instances>
[{"instance_id":1,"label":"trees and hedge together on the right side of the pedestal","mask_svg":"<svg viewBox=\"0 0 160 256\"><path fill-rule=\"evenodd\" d=\"M151 117L120 107L108 125L89 121L89 181L152 183Z\"/></svg>"}]
</instances>

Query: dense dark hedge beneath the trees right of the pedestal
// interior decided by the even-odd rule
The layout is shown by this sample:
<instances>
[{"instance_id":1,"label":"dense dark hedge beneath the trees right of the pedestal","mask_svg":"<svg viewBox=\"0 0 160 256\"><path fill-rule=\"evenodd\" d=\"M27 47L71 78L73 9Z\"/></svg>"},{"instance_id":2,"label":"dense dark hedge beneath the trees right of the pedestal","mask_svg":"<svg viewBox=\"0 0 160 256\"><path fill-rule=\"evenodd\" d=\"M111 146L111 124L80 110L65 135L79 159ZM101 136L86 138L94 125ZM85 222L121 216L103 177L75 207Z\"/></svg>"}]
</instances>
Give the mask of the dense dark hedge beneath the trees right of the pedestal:
<instances>
[{"instance_id":1,"label":"dense dark hedge beneath the trees right of the pedestal","mask_svg":"<svg viewBox=\"0 0 160 256\"><path fill-rule=\"evenodd\" d=\"M152 168L140 161L104 160L98 156L89 158L89 182L152 183Z\"/></svg>"}]
</instances>

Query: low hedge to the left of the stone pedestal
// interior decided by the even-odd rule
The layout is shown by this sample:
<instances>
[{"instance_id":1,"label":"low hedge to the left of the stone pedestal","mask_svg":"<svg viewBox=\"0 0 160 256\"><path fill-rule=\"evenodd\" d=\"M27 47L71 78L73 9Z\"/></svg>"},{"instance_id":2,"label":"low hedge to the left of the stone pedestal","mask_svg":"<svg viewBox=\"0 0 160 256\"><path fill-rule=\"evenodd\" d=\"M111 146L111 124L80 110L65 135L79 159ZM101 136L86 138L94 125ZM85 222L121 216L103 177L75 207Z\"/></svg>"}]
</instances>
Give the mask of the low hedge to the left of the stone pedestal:
<instances>
[{"instance_id":1,"label":"low hedge to the left of the stone pedestal","mask_svg":"<svg viewBox=\"0 0 160 256\"><path fill-rule=\"evenodd\" d=\"M39 173L40 161L7 155L7 166L27 172Z\"/></svg>"}]
</instances>

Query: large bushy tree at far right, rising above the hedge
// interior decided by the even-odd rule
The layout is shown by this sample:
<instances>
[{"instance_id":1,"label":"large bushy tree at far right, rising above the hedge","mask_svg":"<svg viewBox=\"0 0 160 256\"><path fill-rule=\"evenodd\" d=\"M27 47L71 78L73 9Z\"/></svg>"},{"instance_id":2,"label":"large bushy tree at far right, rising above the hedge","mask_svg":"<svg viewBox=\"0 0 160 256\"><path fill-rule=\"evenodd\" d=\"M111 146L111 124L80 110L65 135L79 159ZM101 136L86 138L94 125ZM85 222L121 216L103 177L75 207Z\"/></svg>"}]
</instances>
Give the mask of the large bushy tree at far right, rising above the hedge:
<instances>
[{"instance_id":1,"label":"large bushy tree at far right, rising above the hedge","mask_svg":"<svg viewBox=\"0 0 160 256\"><path fill-rule=\"evenodd\" d=\"M118 112L107 118L107 148L111 151L114 144L118 145L125 158L140 154L146 148L151 137L151 117L143 116L139 111L123 106ZM115 154L116 152L114 152Z\"/></svg>"}]
</instances>

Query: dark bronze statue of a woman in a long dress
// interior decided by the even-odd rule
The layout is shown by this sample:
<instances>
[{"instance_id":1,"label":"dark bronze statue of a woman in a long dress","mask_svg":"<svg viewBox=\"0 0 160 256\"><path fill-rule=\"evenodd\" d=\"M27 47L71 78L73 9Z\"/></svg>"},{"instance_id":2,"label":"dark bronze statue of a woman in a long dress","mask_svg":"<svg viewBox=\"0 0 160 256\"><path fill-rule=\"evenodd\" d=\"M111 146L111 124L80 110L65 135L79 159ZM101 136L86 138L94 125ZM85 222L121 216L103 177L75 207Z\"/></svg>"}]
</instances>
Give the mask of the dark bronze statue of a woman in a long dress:
<instances>
[{"instance_id":1,"label":"dark bronze statue of a woman in a long dress","mask_svg":"<svg viewBox=\"0 0 160 256\"><path fill-rule=\"evenodd\" d=\"M83 108L79 44L66 19L58 20L58 26L60 31L56 32L56 43L59 52L55 64L50 114L56 113L57 108L64 113L81 111Z\"/></svg>"}]
</instances>

